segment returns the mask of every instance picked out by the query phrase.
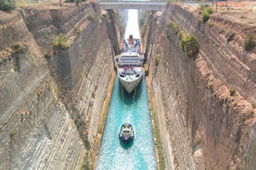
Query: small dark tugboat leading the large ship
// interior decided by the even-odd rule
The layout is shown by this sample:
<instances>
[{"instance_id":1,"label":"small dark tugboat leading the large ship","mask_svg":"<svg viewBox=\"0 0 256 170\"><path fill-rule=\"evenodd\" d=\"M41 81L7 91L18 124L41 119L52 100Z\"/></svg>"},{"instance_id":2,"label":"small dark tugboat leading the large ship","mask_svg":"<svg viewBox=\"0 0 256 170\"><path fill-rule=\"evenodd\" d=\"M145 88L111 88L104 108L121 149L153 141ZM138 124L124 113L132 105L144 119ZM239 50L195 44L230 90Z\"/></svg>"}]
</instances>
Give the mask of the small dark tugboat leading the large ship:
<instances>
[{"instance_id":1,"label":"small dark tugboat leading the large ship","mask_svg":"<svg viewBox=\"0 0 256 170\"><path fill-rule=\"evenodd\" d=\"M131 124L124 123L119 132L119 140L125 145L134 140L134 129Z\"/></svg>"}]
</instances>

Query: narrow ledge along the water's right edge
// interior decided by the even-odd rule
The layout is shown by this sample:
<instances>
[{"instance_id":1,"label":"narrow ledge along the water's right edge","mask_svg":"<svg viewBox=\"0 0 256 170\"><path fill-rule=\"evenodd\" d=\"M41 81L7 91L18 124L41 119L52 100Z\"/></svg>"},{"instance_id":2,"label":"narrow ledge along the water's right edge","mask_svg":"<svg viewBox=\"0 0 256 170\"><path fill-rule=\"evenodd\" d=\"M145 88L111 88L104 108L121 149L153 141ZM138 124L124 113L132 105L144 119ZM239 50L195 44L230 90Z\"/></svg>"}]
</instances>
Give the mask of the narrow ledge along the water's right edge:
<instances>
[{"instance_id":1,"label":"narrow ledge along the water's right edge","mask_svg":"<svg viewBox=\"0 0 256 170\"><path fill-rule=\"evenodd\" d=\"M158 170L164 170L165 161L164 161L162 143L160 140L160 128L159 128L158 115L154 108L154 96L153 96L153 91L150 84L150 79L148 76L146 77L146 83L147 83L147 96L148 96L147 98L148 98L148 104L149 104L149 113L150 113L150 120L152 124L154 148L155 148L155 155L157 159Z\"/></svg>"}]
</instances>

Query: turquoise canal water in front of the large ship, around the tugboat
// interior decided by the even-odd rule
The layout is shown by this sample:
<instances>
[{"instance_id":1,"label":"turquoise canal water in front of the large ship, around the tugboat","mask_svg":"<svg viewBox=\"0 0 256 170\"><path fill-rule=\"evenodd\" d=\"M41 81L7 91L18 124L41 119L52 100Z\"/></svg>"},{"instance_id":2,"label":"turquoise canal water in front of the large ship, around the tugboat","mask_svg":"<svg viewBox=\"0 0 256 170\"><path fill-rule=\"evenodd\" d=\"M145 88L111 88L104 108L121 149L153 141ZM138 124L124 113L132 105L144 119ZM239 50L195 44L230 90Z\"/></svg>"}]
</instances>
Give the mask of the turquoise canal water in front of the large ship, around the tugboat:
<instances>
[{"instance_id":1,"label":"turquoise canal water in front of the large ship, around the tugboat","mask_svg":"<svg viewBox=\"0 0 256 170\"><path fill-rule=\"evenodd\" d=\"M132 124L135 133L134 142L128 147L124 147L118 138L125 122ZM116 76L96 169L157 169L144 78L135 95L128 95Z\"/></svg>"}]
</instances>

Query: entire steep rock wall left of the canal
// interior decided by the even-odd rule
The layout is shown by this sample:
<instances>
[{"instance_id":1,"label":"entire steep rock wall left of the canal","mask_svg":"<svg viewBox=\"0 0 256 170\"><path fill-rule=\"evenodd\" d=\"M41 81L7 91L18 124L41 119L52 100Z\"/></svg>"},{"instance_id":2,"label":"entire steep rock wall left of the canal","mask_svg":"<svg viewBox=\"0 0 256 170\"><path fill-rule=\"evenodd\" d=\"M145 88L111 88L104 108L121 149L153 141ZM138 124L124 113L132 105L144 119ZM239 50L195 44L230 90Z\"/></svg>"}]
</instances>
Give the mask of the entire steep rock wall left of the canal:
<instances>
[{"instance_id":1,"label":"entire steep rock wall left of the canal","mask_svg":"<svg viewBox=\"0 0 256 170\"><path fill-rule=\"evenodd\" d=\"M80 169L94 147L113 70L108 13L82 3L4 16L0 169ZM70 48L54 54L59 32ZM11 48L17 42L22 52Z\"/></svg>"}]
</instances>

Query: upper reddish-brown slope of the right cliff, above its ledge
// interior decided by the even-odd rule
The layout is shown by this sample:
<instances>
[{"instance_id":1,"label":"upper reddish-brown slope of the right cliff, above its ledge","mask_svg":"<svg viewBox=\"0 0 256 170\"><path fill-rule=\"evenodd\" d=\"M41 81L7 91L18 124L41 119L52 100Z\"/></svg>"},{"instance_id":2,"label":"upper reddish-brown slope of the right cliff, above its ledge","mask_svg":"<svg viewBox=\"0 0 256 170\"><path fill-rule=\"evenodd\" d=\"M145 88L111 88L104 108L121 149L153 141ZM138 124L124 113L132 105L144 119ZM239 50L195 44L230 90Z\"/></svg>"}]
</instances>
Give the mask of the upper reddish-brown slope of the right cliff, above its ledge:
<instances>
[{"instance_id":1,"label":"upper reddish-brown slope of the right cliff, above its ledge","mask_svg":"<svg viewBox=\"0 0 256 170\"><path fill-rule=\"evenodd\" d=\"M201 21L199 14L188 10L172 10L170 16L187 34L197 36L203 44L200 46L201 55L214 77L224 81L228 88L236 88L245 99L254 101L256 85L252 80L256 55L243 49L243 40L247 35L254 34L255 28L224 19L218 14L213 14L207 23ZM231 33L235 37L229 42L227 39Z\"/></svg>"}]
</instances>

